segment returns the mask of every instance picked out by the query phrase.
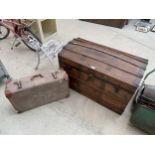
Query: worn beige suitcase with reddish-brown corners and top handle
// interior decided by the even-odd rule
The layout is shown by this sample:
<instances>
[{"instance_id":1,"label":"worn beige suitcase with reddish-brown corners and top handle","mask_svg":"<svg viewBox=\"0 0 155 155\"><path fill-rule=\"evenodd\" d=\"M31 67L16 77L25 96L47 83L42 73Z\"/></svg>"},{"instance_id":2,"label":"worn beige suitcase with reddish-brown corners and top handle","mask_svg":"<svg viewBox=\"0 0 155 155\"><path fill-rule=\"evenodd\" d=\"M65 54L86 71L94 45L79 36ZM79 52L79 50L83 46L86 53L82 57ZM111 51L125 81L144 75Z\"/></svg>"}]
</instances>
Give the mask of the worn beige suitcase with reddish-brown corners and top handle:
<instances>
[{"instance_id":1,"label":"worn beige suitcase with reddish-brown corners and top handle","mask_svg":"<svg viewBox=\"0 0 155 155\"><path fill-rule=\"evenodd\" d=\"M6 84L6 97L17 112L23 112L69 95L68 75L59 70L57 74L40 73Z\"/></svg>"}]
</instances>

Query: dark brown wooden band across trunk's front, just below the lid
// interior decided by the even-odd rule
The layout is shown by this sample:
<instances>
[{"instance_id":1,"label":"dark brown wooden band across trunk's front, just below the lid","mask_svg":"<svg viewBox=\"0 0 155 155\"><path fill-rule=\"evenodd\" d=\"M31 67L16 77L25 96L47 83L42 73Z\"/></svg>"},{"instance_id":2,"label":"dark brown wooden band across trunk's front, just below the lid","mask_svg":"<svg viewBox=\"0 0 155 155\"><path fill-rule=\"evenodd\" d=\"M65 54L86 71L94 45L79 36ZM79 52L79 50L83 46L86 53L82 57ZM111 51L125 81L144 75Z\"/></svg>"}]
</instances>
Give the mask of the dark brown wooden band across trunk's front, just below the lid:
<instances>
[{"instance_id":1,"label":"dark brown wooden band across trunk's front, just below the lid","mask_svg":"<svg viewBox=\"0 0 155 155\"><path fill-rule=\"evenodd\" d=\"M70 78L74 78L81 82L83 81L87 83L87 85L92 89L95 88L99 91L102 91L102 93L111 96L112 98L115 97L124 102L128 102L132 96L132 93L125 91L121 87L116 87L115 85L109 83L109 81L102 80L101 78L98 78L93 74L82 72L75 67L68 67L68 65L65 63L61 64L62 67L70 75Z\"/></svg>"}]
</instances>

